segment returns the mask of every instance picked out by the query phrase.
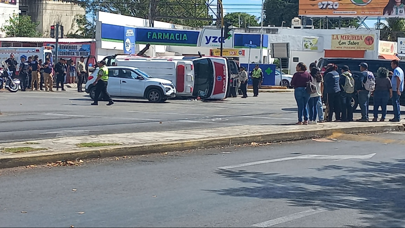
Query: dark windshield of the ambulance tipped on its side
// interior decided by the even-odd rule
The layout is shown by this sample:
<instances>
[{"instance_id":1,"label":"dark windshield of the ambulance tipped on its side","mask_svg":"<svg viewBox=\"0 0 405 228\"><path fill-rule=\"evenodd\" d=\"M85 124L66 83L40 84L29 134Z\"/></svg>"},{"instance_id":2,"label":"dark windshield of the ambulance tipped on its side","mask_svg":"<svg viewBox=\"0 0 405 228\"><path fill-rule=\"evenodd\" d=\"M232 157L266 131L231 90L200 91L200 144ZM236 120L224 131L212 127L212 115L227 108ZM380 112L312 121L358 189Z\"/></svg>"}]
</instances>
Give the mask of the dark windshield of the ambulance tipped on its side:
<instances>
[{"instance_id":1,"label":"dark windshield of the ambulance tipped on its side","mask_svg":"<svg viewBox=\"0 0 405 228\"><path fill-rule=\"evenodd\" d=\"M193 96L209 97L214 86L214 70L209 59L200 59L194 63L194 91Z\"/></svg>"}]
</instances>

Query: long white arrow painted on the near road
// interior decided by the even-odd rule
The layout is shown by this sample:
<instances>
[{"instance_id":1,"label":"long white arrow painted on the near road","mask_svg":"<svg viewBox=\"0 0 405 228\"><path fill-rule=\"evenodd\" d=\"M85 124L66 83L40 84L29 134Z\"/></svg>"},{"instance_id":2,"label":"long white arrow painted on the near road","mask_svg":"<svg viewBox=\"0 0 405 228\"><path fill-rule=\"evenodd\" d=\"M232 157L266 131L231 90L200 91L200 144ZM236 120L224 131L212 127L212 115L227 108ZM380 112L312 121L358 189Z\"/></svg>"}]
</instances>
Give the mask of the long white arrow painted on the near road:
<instances>
[{"instance_id":1,"label":"long white arrow painted on the near road","mask_svg":"<svg viewBox=\"0 0 405 228\"><path fill-rule=\"evenodd\" d=\"M222 167L218 167L218 169L239 168L239 167L244 167L244 166L253 166L253 165L258 165L258 164L265 164L265 163L271 163L271 162L281 162L281 161L288 161L288 160L294 160L294 159L333 159L333 160L343 160L343 159L352 159L352 158L369 159L369 158L372 158L375 154L376 153L370 153L370 154L367 154L367 155L308 154L308 155L301 155L301 156L296 156L296 157L276 158L276 159L263 160L263 161L258 161L258 162L248 162L248 163L243 163L243 164L233 165L233 166L222 166Z\"/></svg>"}]
</instances>

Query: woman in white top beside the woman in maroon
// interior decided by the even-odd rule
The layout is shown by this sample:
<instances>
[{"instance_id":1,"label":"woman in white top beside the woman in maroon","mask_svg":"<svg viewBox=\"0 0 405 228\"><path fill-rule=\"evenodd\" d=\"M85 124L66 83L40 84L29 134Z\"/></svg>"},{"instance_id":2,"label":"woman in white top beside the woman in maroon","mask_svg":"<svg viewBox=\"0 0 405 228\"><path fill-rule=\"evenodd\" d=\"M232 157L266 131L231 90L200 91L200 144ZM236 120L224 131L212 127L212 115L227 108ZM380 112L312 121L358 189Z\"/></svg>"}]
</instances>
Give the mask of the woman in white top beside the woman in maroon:
<instances>
[{"instance_id":1,"label":"woman in white top beside the woman in maroon","mask_svg":"<svg viewBox=\"0 0 405 228\"><path fill-rule=\"evenodd\" d=\"M316 67L311 68L311 77L312 77L312 82L316 86L316 93L311 94L309 101L308 101L308 106L309 106L308 124L317 124L317 121L316 121L316 116L318 115L317 104L318 103L322 104L321 97L322 97L324 79L322 78L320 71ZM323 120L320 120L320 121L323 121Z\"/></svg>"}]
</instances>

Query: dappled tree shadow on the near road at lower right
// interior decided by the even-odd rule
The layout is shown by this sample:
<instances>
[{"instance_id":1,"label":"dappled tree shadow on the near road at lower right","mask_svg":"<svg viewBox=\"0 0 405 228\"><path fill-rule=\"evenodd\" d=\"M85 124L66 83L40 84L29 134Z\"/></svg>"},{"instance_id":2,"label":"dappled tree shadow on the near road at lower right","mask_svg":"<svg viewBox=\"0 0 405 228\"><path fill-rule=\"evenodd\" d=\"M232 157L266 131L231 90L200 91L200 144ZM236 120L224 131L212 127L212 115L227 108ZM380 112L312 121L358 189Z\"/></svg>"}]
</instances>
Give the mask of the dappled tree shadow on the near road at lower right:
<instances>
[{"instance_id":1,"label":"dappled tree shadow on the near road at lower right","mask_svg":"<svg viewBox=\"0 0 405 228\"><path fill-rule=\"evenodd\" d=\"M319 172L344 175L295 177L279 173L219 170L218 175L257 186L209 190L224 196L285 199L294 207L356 209L369 227L402 227L405 214L405 160L358 162L363 167L328 165Z\"/></svg>"}]
</instances>

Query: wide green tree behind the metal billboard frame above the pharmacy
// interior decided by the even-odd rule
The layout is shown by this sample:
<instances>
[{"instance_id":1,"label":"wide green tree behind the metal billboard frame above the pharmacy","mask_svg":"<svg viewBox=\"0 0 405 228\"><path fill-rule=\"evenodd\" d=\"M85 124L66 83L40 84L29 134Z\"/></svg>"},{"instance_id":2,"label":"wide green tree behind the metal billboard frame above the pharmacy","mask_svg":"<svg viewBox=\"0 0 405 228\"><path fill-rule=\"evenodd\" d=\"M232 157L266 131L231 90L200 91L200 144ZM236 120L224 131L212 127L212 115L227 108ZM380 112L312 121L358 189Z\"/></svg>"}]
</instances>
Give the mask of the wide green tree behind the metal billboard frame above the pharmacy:
<instances>
[{"instance_id":1,"label":"wide green tree behind the metal billboard frame above the pharmacy","mask_svg":"<svg viewBox=\"0 0 405 228\"><path fill-rule=\"evenodd\" d=\"M80 0L87 12L104 11L131 17L141 17L148 19L149 16L162 15L173 18L158 18L159 21L175 23L184 26L200 27L212 24L206 20L186 20L179 19L179 15L189 15L198 17L211 17L208 14L206 0ZM151 9L149 11L149 9ZM149 14L150 13L150 14Z\"/></svg>"}]
</instances>

